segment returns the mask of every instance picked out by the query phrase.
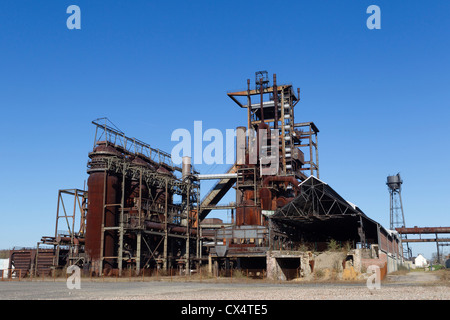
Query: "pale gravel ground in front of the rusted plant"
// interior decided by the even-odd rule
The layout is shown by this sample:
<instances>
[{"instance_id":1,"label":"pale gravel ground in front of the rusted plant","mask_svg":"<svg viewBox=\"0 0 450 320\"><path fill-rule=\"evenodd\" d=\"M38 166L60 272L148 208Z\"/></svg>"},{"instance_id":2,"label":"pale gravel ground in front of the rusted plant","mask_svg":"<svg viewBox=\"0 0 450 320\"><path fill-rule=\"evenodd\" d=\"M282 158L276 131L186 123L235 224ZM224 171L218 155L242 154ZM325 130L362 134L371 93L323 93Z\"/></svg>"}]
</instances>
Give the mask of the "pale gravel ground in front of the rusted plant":
<instances>
[{"instance_id":1,"label":"pale gravel ground in front of the rusted plant","mask_svg":"<svg viewBox=\"0 0 450 320\"><path fill-rule=\"evenodd\" d=\"M3 281L0 300L449 300L450 286L427 273L389 276L379 290L365 283L90 281L69 290L65 280Z\"/></svg>"}]
</instances>

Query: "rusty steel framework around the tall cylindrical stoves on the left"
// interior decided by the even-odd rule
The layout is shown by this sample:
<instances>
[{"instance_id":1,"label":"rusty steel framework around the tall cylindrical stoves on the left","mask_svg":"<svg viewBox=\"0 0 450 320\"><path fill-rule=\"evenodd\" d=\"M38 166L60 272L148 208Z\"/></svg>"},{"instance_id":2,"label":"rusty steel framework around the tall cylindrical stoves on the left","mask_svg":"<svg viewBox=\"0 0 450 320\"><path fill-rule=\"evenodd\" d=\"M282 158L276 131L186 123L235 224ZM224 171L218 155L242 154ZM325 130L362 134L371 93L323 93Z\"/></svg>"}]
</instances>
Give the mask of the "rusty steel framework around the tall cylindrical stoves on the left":
<instances>
[{"instance_id":1,"label":"rusty steel framework around the tall cylindrical stoves on the left","mask_svg":"<svg viewBox=\"0 0 450 320\"><path fill-rule=\"evenodd\" d=\"M98 173L103 174L98 269L104 270L105 262L108 262L107 266L116 265L121 275L126 262L127 267L134 265L139 273L150 262L167 269L176 260L178 265L183 264L190 270L193 259L198 263L201 261L201 230L197 218L200 212L199 183L192 174L177 178L172 172L182 172L182 168L172 163L170 154L125 136L108 124L107 119L101 119L105 123L98 120L93 121L96 125L94 151L88 163L88 173L97 174L97 177ZM107 196L108 188L112 188L108 183L110 177L114 177L120 186L114 191L120 196L119 201ZM152 192L144 197L144 189ZM138 194L130 202L130 194L136 192L132 190L138 190ZM157 201L154 192L163 192L163 202ZM173 195L179 196L181 202L173 203ZM107 218L111 212L116 212L115 222ZM109 245L109 254L105 254L107 238L114 239L115 246L111 251ZM180 250L179 241L185 242L185 253L175 259L173 250ZM115 254L111 255L112 252Z\"/></svg>"}]
</instances>

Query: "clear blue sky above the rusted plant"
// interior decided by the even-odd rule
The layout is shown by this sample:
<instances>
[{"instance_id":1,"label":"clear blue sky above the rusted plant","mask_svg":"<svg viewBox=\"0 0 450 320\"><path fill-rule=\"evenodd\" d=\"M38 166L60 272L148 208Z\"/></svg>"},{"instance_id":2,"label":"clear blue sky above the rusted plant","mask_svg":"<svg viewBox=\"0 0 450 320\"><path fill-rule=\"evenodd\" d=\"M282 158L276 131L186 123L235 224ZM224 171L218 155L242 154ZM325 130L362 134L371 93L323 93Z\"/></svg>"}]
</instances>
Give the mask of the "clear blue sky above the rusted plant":
<instances>
[{"instance_id":1,"label":"clear blue sky above the rusted plant","mask_svg":"<svg viewBox=\"0 0 450 320\"><path fill-rule=\"evenodd\" d=\"M71 4L81 30L66 27ZM381 30L366 27L371 4ZM2 0L0 248L54 234L58 189L87 179L93 119L170 152L172 131L195 120L245 125L226 92L259 70L301 88L296 121L319 127L320 177L344 198L388 227L385 181L400 172L407 225L449 226L449 12L448 1Z\"/></svg>"}]
</instances>

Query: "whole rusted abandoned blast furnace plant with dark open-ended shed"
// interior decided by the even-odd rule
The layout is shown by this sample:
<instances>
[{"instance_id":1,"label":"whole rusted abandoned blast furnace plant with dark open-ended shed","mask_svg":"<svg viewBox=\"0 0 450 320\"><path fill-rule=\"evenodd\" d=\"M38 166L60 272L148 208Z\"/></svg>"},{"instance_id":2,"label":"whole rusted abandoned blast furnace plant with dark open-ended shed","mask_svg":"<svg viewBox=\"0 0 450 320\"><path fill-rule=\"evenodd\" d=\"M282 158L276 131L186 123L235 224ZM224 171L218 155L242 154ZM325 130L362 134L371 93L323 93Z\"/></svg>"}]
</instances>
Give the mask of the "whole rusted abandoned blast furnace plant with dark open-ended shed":
<instances>
[{"instance_id":1,"label":"whole rusted abandoned blast furnace plant with dark open-ended shed","mask_svg":"<svg viewBox=\"0 0 450 320\"><path fill-rule=\"evenodd\" d=\"M188 157L174 165L170 154L106 119L93 121L87 190L60 190L55 235L39 243L47 245L45 265L36 254L22 266L19 251L11 252L12 265L39 273L77 264L91 274L121 275L152 268L189 273L207 264L215 274L247 269L290 279L313 272L311 252L333 240L348 246L343 267L351 261L359 269L394 270L403 253L398 233L319 178L319 129L294 118L300 90L278 84L276 75L270 84L263 71L253 86L247 80L246 89L228 96L247 126L237 128L236 162L223 174L202 175ZM217 183L200 199L201 182L211 179ZM235 203L220 205L228 192L236 193ZM73 210L63 195L73 197ZM215 209L231 209L233 223L211 223ZM68 231L61 233L64 222Z\"/></svg>"}]
</instances>

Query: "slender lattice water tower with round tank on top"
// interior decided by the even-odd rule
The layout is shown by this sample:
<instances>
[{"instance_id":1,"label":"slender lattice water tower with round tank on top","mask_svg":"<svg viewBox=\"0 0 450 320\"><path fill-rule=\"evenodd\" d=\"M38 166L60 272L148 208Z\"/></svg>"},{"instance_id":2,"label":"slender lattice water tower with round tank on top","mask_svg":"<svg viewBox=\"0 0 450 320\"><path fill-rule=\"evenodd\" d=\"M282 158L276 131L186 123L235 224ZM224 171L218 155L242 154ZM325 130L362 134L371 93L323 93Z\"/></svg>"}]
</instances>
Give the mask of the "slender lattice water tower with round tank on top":
<instances>
[{"instance_id":1,"label":"slender lattice water tower with round tank on top","mask_svg":"<svg viewBox=\"0 0 450 320\"><path fill-rule=\"evenodd\" d=\"M405 214L403 213L402 204L402 184L403 180L400 177L400 173L395 176L387 177L387 186L389 188L390 195L390 229L406 227ZM403 239L406 239L406 235L402 235ZM412 255L411 249L407 242L404 242L403 256L410 258Z\"/></svg>"}]
</instances>

